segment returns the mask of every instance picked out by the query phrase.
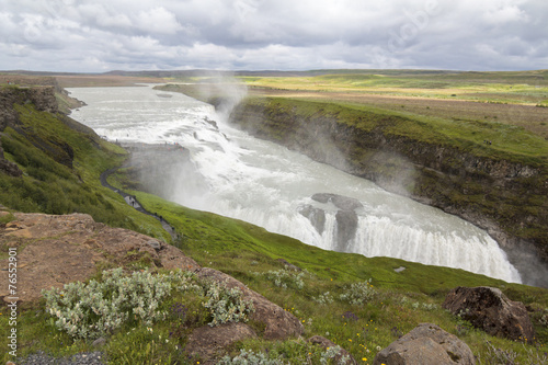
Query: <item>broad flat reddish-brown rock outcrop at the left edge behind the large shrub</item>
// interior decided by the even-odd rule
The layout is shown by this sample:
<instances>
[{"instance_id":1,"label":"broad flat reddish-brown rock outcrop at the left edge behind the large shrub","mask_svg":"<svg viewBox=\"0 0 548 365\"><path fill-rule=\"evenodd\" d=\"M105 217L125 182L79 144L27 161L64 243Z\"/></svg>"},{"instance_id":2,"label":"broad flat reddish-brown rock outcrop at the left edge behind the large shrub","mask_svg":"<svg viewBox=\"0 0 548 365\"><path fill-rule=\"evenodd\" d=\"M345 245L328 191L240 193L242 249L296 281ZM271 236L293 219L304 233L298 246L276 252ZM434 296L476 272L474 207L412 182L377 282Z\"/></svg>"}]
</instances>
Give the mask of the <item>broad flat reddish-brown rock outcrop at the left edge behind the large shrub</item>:
<instances>
[{"instance_id":1,"label":"broad flat reddish-brown rock outcrop at the left edge behind the large shrub","mask_svg":"<svg viewBox=\"0 0 548 365\"><path fill-rule=\"evenodd\" d=\"M0 212L0 216L8 215ZM152 266L194 271L198 264L173 246L122 228L95 223L87 214L65 216L15 213L0 226L0 244L16 249L20 301L41 297L42 289L85 281L99 266L146 260ZM4 259L2 267L8 267ZM0 271L8 282L8 272ZM8 297L8 287L0 297Z\"/></svg>"}]
</instances>

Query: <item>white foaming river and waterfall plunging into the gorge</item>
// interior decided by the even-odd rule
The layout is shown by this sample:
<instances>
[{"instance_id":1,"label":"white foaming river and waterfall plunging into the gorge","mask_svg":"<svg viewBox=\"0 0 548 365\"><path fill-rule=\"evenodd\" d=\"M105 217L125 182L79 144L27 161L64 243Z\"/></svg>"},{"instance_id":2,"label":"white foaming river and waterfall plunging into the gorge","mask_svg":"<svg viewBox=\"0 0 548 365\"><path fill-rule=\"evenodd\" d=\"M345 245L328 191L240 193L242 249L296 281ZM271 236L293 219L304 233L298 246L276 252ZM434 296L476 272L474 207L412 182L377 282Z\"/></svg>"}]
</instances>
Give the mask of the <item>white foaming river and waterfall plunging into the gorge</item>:
<instances>
[{"instance_id":1,"label":"white foaming river and waterfall plunging into the gorge","mask_svg":"<svg viewBox=\"0 0 548 365\"><path fill-rule=\"evenodd\" d=\"M344 251L391 256L521 282L483 230L374 183L256 139L226 123L209 104L179 93L139 88L77 88L88 105L71 117L110 140L178 142L199 175L182 175L171 199L262 226L323 249L336 247L339 208L311 198L331 193L357 199L357 229ZM167 98L169 96L169 98ZM216 121L210 123L209 121ZM323 210L323 229L299 212Z\"/></svg>"}]
</instances>

